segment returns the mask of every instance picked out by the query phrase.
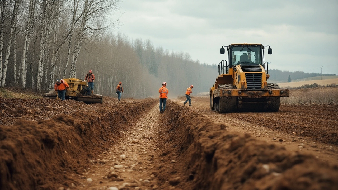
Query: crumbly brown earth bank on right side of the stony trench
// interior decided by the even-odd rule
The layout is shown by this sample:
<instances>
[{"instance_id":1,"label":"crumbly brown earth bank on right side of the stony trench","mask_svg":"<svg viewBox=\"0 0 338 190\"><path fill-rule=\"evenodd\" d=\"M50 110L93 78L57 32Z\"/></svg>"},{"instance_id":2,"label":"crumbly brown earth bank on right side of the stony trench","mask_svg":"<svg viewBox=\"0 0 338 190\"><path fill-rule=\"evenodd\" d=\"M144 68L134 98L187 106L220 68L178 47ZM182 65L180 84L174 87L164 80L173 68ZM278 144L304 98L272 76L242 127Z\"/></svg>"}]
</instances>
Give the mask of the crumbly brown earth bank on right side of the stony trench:
<instances>
[{"instance_id":1,"label":"crumbly brown earth bank on right side of the stony trench","mask_svg":"<svg viewBox=\"0 0 338 190\"><path fill-rule=\"evenodd\" d=\"M159 179L168 176L187 183L182 189L337 189L338 166L313 156L290 152L249 134L228 132L189 108L168 101L168 118L160 132L168 147L162 156L176 160L163 164ZM168 161L169 162L169 161ZM169 172L168 172L169 171ZM163 177L162 177L163 176ZM170 183L170 181L169 181Z\"/></svg>"}]
</instances>

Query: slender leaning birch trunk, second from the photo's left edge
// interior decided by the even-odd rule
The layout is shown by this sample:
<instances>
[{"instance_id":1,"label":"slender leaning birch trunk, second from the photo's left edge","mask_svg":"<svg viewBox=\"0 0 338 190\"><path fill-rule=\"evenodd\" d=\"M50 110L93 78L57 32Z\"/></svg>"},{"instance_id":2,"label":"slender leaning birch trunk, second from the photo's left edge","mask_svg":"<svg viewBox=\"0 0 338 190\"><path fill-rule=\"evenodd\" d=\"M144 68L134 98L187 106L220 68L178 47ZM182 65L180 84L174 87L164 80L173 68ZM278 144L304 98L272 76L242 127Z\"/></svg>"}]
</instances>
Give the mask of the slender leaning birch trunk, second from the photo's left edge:
<instances>
[{"instance_id":1,"label":"slender leaning birch trunk, second from the photo's left edge","mask_svg":"<svg viewBox=\"0 0 338 190\"><path fill-rule=\"evenodd\" d=\"M18 0L14 1L14 8L13 8L13 16L10 23L10 29L9 29L9 39L7 43L7 49L5 54L5 63L3 64L3 72L1 75L1 87L4 87L6 84L6 74L7 74L7 65L8 65L8 59L9 59L9 53L10 53L10 47L12 45L12 37L14 32L14 25L15 21L17 19L17 12L18 12L19 2Z\"/></svg>"}]
</instances>

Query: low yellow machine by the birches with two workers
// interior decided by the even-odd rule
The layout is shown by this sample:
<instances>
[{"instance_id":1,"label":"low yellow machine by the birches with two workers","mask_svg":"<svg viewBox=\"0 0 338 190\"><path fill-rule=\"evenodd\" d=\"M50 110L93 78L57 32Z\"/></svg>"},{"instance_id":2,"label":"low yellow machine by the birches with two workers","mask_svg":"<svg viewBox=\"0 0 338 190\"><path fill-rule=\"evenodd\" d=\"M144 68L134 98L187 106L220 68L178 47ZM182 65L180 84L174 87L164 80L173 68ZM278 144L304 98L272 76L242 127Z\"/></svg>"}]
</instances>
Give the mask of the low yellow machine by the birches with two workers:
<instances>
[{"instance_id":1,"label":"low yellow machine by the birches with two workers","mask_svg":"<svg viewBox=\"0 0 338 190\"><path fill-rule=\"evenodd\" d=\"M85 80L82 78L64 78L69 88L66 91L65 99L73 99L77 101L83 101L84 103L103 103L103 96L99 94L91 94L88 90L88 85ZM43 94L44 98L56 99L57 95L53 90L48 93Z\"/></svg>"}]
</instances>

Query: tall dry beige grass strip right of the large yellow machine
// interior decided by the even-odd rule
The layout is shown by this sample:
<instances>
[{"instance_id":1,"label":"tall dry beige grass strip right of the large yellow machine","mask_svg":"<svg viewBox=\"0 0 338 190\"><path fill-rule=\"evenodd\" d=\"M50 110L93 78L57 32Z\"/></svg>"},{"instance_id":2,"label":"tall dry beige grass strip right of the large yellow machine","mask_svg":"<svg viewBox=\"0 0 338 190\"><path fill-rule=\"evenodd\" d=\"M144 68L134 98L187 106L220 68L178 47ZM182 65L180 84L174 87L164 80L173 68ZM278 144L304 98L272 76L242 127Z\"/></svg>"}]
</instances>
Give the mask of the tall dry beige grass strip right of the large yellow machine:
<instances>
[{"instance_id":1,"label":"tall dry beige grass strip right of the large yellow machine","mask_svg":"<svg viewBox=\"0 0 338 190\"><path fill-rule=\"evenodd\" d=\"M281 103L338 103L338 87L308 88L289 90L289 97L281 98Z\"/></svg>"}]
</instances>

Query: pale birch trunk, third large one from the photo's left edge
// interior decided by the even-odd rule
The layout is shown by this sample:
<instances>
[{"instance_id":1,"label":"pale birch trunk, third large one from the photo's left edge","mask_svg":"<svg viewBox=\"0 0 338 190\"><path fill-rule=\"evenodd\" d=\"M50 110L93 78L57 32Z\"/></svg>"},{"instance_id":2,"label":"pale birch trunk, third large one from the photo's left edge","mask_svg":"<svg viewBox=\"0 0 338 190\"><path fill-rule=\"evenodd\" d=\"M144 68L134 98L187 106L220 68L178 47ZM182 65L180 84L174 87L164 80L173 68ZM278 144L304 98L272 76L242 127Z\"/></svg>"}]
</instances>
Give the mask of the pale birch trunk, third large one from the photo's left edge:
<instances>
[{"instance_id":1,"label":"pale birch trunk, third large one from the photo's left edge","mask_svg":"<svg viewBox=\"0 0 338 190\"><path fill-rule=\"evenodd\" d=\"M31 19L34 15L34 8L35 8L35 3L34 0L30 0L29 1L29 10L28 10L28 18L27 18L27 22L26 22L26 30L25 30L25 40L24 40L24 45L23 45L23 50L22 50L22 58L21 58L21 64L20 64L20 72L21 72L21 86L25 87L26 85L26 66L25 66L25 62L26 62L26 49L28 49L27 43L29 41L29 30L30 30L30 26L31 26Z\"/></svg>"}]
</instances>

